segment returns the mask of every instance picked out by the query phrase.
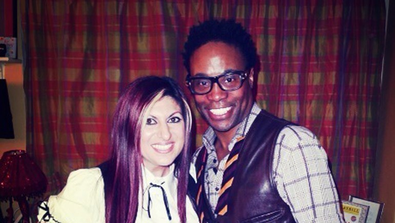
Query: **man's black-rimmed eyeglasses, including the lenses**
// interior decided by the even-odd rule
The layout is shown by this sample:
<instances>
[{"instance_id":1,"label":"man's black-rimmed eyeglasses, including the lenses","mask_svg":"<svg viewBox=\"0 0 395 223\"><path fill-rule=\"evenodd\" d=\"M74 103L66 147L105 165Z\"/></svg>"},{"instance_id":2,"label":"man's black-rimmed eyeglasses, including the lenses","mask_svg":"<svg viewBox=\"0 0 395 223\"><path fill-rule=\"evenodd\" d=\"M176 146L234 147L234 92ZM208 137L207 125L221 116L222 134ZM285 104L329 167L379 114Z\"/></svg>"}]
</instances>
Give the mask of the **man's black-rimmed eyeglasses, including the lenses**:
<instances>
[{"instance_id":1,"label":"man's black-rimmed eyeglasses, including the lenses","mask_svg":"<svg viewBox=\"0 0 395 223\"><path fill-rule=\"evenodd\" d=\"M222 91L236 91L243 85L247 77L247 71L230 71L215 77L192 77L188 75L186 84L192 94L205 95L211 91L214 83L217 83Z\"/></svg>"}]
</instances>

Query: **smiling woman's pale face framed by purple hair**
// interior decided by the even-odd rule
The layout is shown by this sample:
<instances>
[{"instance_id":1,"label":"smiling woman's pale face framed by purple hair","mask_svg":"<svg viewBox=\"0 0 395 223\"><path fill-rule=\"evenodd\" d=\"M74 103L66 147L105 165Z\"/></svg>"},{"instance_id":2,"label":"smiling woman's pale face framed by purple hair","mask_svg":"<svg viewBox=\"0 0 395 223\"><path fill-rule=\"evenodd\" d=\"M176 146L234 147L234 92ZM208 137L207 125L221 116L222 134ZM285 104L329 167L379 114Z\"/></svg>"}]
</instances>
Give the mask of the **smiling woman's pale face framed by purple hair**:
<instances>
[{"instance_id":1,"label":"smiling woman's pale face framed by purple hair","mask_svg":"<svg viewBox=\"0 0 395 223\"><path fill-rule=\"evenodd\" d=\"M165 96L152 105L145 117L140 138L144 166L156 176L165 175L184 146L181 108L173 98Z\"/></svg>"}]
</instances>

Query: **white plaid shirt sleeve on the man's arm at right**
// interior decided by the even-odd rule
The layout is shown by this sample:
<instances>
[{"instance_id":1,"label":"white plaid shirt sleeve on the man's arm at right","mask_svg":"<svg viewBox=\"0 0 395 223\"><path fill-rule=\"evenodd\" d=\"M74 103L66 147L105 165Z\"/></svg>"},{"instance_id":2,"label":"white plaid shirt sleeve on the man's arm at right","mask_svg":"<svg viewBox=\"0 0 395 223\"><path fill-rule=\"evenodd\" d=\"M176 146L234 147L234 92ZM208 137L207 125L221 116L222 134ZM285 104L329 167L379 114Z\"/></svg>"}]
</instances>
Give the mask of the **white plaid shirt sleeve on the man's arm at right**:
<instances>
[{"instance_id":1,"label":"white plaid shirt sleeve on the man's arm at right","mask_svg":"<svg viewBox=\"0 0 395 223\"><path fill-rule=\"evenodd\" d=\"M343 222L325 150L310 130L285 127L273 157L275 184L297 222Z\"/></svg>"}]
</instances>

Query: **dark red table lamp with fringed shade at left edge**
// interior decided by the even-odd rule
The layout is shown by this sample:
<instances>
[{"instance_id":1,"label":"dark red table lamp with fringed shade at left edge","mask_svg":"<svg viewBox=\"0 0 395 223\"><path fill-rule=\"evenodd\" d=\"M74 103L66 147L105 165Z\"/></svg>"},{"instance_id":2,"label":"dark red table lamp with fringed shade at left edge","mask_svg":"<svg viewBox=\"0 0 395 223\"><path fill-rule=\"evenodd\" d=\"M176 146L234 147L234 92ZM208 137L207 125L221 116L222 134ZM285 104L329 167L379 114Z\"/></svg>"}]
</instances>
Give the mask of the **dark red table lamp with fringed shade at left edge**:
<instances>
[{"instance_id":1,"label":"dark red table lamp with fringed shade at left edge","mask_svg":"<svg viewBox=\"0 0 395 223\"><path fill-rule=\"evenodd\" d=\"M24 150L10 150L0 159L0 199L10 200L7 210L12 220L12 198L18 202L23 222L29 222L26 197L34 197L47 190L47 177Z\"/></svg>"}]
</instances>

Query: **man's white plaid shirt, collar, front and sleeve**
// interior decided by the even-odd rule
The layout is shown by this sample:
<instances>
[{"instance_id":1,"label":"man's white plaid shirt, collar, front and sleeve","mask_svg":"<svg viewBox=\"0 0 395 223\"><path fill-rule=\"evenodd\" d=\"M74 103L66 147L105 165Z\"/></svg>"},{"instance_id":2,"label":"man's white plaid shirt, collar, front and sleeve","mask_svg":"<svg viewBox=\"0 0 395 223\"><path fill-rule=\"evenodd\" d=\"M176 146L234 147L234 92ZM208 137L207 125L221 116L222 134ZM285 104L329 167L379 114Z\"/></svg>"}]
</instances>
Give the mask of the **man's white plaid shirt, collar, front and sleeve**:
<instances>
[{"instance_id":1,"label":"man's white plaid shirt, collar, front and sleeve","mask_svg":"<svg viewBox=\"0 0 395 223\"><path fill-rule=\"evenodd\" d=\"M229 151L238 139L244 138L260 111L261 108L255 103L250 115L243 120L230 141ZM218 161L215 138L214 130L209 127L203 135L203 145L208 154L205 190L213 212L229 157L228 154ZM202 147L193 155L193 164L201 149ZM290 207L297 222L343 222L339 196L328 168L326 152L317 137L307 128L291 125L281 130L274 148L273 176L280 196Z\"/></svg>"}]
</instances>

